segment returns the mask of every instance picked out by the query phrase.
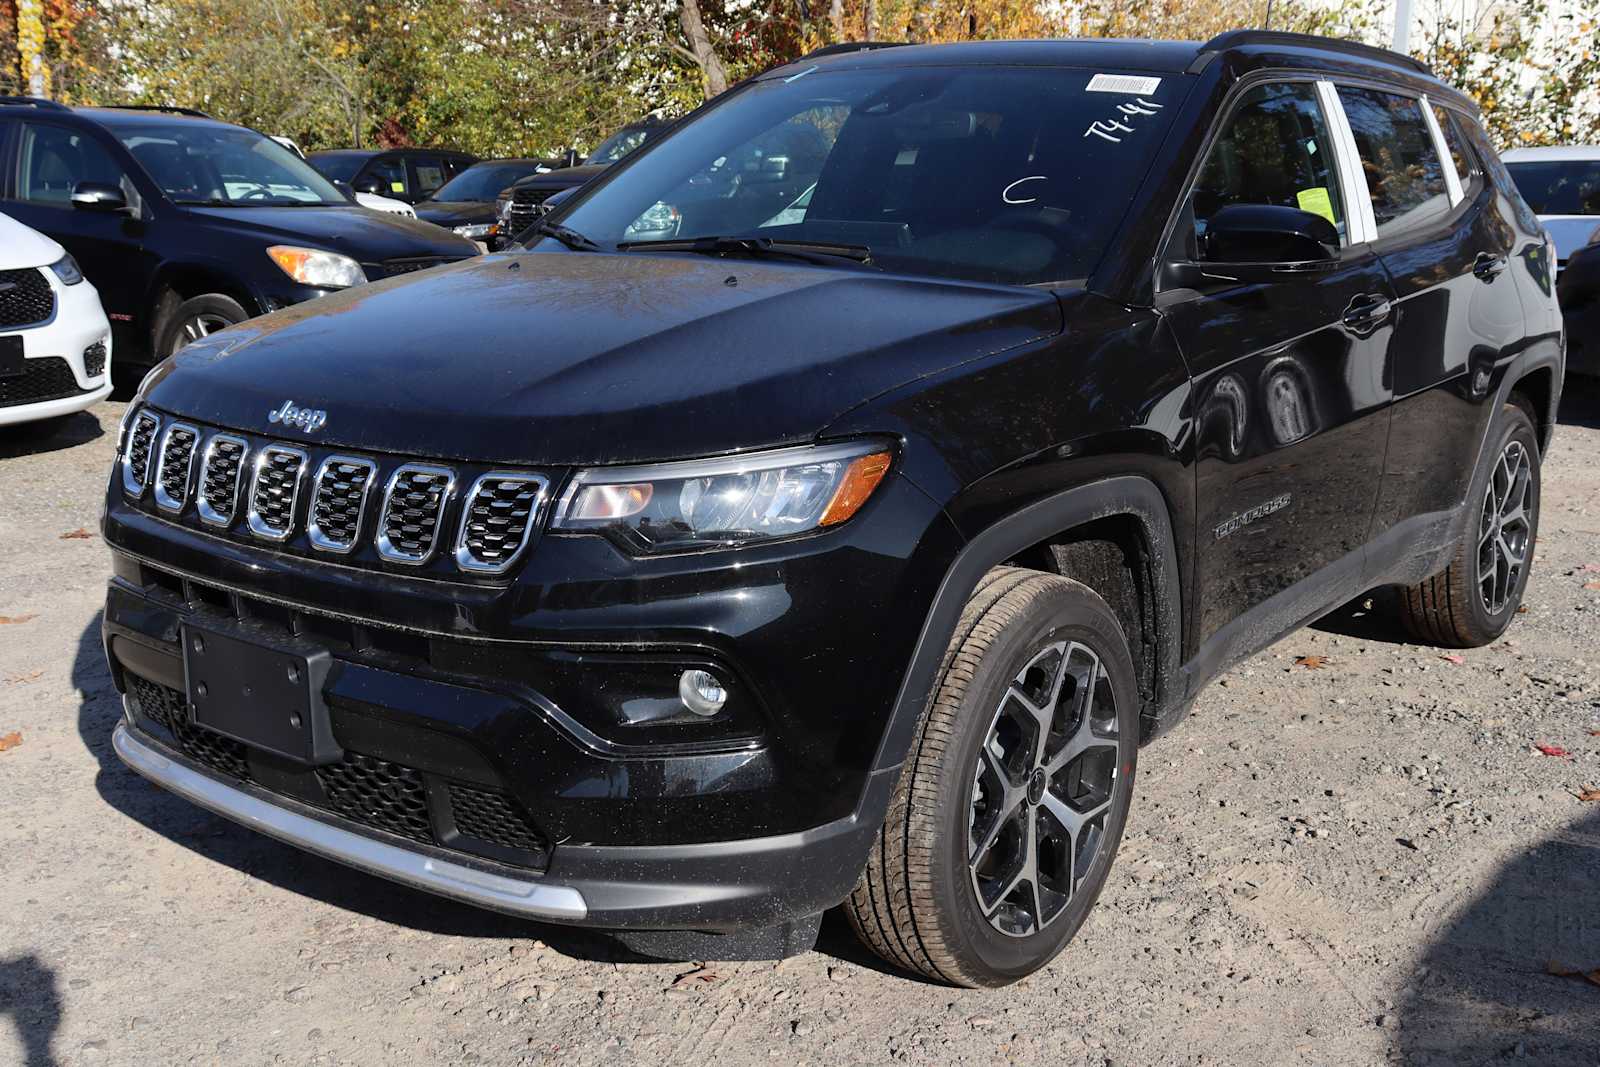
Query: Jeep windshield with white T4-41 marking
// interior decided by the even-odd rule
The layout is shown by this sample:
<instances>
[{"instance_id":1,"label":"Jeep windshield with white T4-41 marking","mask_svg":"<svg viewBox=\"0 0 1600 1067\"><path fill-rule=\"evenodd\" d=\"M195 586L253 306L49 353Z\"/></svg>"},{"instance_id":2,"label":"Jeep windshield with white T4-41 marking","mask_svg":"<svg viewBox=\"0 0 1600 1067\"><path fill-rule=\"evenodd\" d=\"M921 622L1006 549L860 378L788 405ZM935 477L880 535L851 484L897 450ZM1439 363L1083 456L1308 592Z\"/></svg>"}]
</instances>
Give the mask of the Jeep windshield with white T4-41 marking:
<instances>
[{"instance_id":1,"label":"Jeep windshield with white T4-41 marking","mask_svg":"<svg viewBox=\"0 0 1600 1067\"><path fill-rule=\"evenodd\" d=\"M864 246L907 274L1083 278L1181 94L1173 77L1061 67L802 72L677 128L558 222L603 246L773 238Z\"/></svg>"}]
</instances>

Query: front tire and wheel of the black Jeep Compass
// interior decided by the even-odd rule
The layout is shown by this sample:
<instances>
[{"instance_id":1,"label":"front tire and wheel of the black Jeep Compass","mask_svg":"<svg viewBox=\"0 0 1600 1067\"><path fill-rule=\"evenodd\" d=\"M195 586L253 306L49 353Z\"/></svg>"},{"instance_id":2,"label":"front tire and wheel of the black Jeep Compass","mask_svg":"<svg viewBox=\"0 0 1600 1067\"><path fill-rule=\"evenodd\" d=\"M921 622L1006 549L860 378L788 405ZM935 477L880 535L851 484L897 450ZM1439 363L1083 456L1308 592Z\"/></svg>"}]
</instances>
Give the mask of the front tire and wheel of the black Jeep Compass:
<instances>
[{"instance_id":1,"label":"front tire and wheel of the black Jeep Compass","mask_svg":"<svg viewBox=\"0 0 1600 1067\"><path fill-rule=\"evenodd\" d=\"M851 926L890 963L952 985L1050 963L1110 872L1138 726L1110 606L1066 577L989 571L845 904Z\"/></svg>"}]
</instances>

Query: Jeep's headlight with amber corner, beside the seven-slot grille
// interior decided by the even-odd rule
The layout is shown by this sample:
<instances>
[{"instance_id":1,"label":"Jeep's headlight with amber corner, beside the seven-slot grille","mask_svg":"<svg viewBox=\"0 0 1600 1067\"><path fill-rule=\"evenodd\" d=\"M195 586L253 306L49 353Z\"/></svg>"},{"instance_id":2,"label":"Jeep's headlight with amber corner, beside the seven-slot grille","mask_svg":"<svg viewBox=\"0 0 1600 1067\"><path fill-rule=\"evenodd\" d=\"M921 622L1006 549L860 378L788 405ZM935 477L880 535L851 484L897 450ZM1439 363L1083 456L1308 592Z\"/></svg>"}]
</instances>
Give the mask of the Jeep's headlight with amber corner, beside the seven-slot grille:
<instances>
[{"instance_id":1,"label":"Jeep's headlight with amber corner, beside the seven-slot grille","mask_svg":"<svg viewBox=\"0 0 1600 1067\"><path fill-rule=\"evenodd\" d=\"M880 443L579 470L558 530L605 533L635 552L683 552L837 526L888 474Z\"/></svg>"}]
</instances>

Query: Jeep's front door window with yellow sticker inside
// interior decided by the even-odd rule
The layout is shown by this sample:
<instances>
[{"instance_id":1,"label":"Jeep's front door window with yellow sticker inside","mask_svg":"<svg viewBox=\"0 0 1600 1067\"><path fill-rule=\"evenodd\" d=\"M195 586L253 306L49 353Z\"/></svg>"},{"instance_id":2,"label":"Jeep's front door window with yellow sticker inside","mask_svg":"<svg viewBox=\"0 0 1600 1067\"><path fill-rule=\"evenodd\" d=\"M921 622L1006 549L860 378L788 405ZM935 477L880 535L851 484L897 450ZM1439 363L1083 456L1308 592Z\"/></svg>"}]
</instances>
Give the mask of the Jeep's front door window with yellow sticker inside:
<instances>
[{"instance_id":1,"label":"Jeep's front door window with yellow sticker inside","mask_svg":"<svg viewBox=\"0 0 1600 1067\"><path fill-rule=\"evenodd\" d=\"M1258 85L1245 93L1211 144L1189 195L1195 240L1230 205L1299 208L1333 222L1347 245L1333 138L1310 82Z\"/></svg>"}]
</instances>

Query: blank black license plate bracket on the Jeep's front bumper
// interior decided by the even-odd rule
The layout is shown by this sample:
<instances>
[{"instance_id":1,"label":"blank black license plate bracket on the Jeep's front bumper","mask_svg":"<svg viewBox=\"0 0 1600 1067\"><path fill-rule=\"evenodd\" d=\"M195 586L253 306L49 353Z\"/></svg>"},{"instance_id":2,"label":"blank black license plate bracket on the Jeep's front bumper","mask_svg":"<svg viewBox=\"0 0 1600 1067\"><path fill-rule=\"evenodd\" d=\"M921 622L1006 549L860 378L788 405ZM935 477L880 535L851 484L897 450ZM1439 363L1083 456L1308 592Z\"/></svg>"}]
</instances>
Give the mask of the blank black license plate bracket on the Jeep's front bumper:
<instances>
[{"instance_id":1,"label":"blank black license plate bracket on the Jeep's front bumper","mask_svg":"<svg viewBox=\"0 0 1600 1067\"><path fill-rule=\"evenodd\" d=\"M333 654L310 641L269 641L194 622L179 625L189 717L296 763L338 763L323 686Z\"/></svg>"}]
</instances>

